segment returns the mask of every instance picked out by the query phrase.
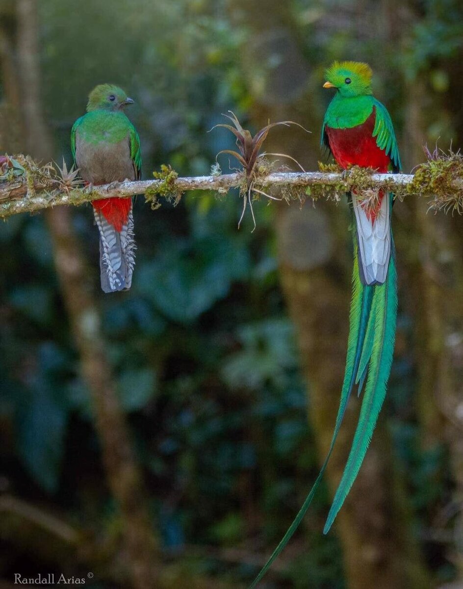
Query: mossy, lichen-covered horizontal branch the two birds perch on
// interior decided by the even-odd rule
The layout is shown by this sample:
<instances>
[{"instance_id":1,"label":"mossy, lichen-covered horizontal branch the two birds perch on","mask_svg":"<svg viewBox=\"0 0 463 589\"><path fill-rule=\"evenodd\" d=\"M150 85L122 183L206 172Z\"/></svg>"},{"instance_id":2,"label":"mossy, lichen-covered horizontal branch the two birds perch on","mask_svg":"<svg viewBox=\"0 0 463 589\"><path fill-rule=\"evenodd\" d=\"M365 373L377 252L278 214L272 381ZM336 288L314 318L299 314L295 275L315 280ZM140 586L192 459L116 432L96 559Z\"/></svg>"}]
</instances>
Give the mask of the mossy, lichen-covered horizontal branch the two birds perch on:
<instances>
[{"instance_id":1,"label":"mossy, lichen-covered horizontal branch the two birds perch on","mask_svg":"<svg viewBox=\"0 0 463 589\"><path fill-rule=\"evenodd\" d=\"M211 176L178 177L169 166L162 166L154 180L117 182L104 186L78 186L75 171L51 164L40 167L28 156L5 156L0 161L0 217L18 213L34 213L56 205L78 206L92 200L108 197L127 197L144 194L152 208L159 206L158 198L178 202L188 190L215 190L226 194L231 188L247 190L245 171ZM279 187L285 200L301 198L328 198L339 200L346 192L355 189L365 199L377 197L378 190L394 192L402 200L405 196L428 198L434 210L463 213L463 157L460 154L442 154L415 168L415 174L376 174L373 170L354 166L344 173L337 166L320 164L317 172L272 171L261 166L254 174L253 196L267 194ZM268 196L268 195L267 195Z\"/></svg>"}]
</instances>

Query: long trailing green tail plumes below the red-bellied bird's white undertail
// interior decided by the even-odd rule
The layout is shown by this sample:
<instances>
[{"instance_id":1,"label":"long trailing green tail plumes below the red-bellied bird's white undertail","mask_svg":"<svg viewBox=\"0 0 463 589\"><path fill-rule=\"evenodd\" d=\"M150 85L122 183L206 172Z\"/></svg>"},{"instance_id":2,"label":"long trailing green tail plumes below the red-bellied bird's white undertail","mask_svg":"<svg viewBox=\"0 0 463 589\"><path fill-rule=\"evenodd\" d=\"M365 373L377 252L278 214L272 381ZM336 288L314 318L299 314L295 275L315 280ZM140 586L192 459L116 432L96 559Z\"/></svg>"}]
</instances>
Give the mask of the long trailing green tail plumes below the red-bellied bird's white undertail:
<instances>
[{"instance_id":1,"label":"long trailing green tail plumes below the red-bellied bird's white undertail","mask_svg":"<svg viewBox=\"0 0 463 589\"><path fill-rule=\"evenodd\" d=\"M302 518L304 518L327 468L352 388L355 383L359 383L359 389L361 388L368 371L365 396L362 402L357 431L355 432L351 453L349 454L341 483L339 484L327 523L325 524L325 534L331 527L344 499L347 497L367 452L368 444L377 422L379 409L381 409L382 402L384 401L387 380L391 371L392 352L394 350L397 316L397 273L394 260L394 244L390 231L389 227L392 254L389 256L387 280L379 286L370 286L364 284L361 280L358 240L354 234L354 270L352 273L352 302L349 317L347 359L344 383L342 385L341 399L331 445L329 446L325 462L304 504L271 557L249 586L249 589L256 587L262 577L264 577L272 562L288 544Z\"/></svg>"}]
</instances>

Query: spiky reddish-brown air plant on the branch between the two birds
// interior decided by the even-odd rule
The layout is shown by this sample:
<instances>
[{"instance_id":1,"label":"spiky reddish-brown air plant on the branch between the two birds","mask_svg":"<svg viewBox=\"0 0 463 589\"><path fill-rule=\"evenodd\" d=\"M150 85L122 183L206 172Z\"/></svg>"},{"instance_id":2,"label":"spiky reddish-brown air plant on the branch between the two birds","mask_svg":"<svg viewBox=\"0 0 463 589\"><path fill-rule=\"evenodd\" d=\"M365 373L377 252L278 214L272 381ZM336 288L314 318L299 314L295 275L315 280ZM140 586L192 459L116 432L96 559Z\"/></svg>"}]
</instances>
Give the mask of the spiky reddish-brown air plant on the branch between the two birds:
<instances>
[{"instance_id":1,"label":"spiky reddish-brown air plant on the branch between the two birds","mask_svg":"<svg viewBox=\"0 0 463 589\"><path fill-rule=\"evenodd\" d=\"M238 162L243 167L243 170L246 172L245 188L244 188L244 190L241 191L242 197L243 197L243 210L241 213L241 217L239 218L238 228L241 225L241 221L243 220L244 214L246 212L246 206L249 203L249 208L251 209L252 221L254 222L254 229L255 229L256 222L255 222L254 211L252 210L252 193L262 194L262 196L265 196L267 198L271 198L272 200L281 200L280 198L275 198L274 196L270 196L270 194L267 194L264 191L259 190L258 188L255 187L255 184L257 183L257 180L258 180L258 178L257 178L258 160L261 158L264 158L266 155L275 155L277 157L287 157L289 160L292 160L295 163L297 163L297 165L299 166L299 168L301 168L301 170L303 172L305 171L304 168L301 166L301 164L299 164L299 162L297 160L295 160L294 157L291 157L291 155L284 154L284 153L260 153L262 144L264 143L265 139L267 138L269 130L271 130L272 127L277 127L278 125L284 125L285 127L289 127L290 125L298 125L298 127L301 127L301 129L304 129L304 131L306 131L307 133L310 133L310 131L307 131L307 129L302 127L302 125L299 125L299 123L295 123L294 121L279 121L278 123L269 123L268 125L265 125L265 127L263 127L260 131L258 131L254 135L254 137L252 137L252 134L250 131L242 128L241 124L238 121L237 115L235 115L235 113L232 111L228 111L228 112L230 113L231 116L228 114L223 114L223 116L226 118L229 118L229 120L232 121L234 126L228 125L225 123L219 123L218 125L214 125L214 127L212 127L212 129L215 129L216 127L224 127L225 129L228 129L229 131L231 131L231 133L233 133L235 135L235 137L237 138L237 147L238 147L239 153L238 153L238 151L224 149L222 151L219 151L219 153L216 155L216 158L219 155L221 155L222 153L228 153L229 155L232 155L235 159L238 160ZM211 131L212 131L212 129L211 129ZM252 229L252 231L254 231L254 229Z\"/></svg>"}]
</instances>

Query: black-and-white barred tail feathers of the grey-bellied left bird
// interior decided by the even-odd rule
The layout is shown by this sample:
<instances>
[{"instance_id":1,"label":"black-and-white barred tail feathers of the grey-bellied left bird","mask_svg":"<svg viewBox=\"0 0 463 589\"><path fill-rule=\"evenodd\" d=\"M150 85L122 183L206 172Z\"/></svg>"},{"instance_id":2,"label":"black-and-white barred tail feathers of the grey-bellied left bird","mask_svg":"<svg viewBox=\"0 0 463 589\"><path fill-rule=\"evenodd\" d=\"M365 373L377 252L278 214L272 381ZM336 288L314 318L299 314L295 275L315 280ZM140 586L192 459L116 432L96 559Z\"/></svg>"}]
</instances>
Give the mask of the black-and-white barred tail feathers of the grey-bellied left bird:
<instances>
[{"instance_id":1,"label":"black-and-white barred tail feathers of the grey-bellied left bird","mask_svg":"<svg viewBox=\"0 0 463 589\"><path fill-rule=\"evenodd\" d=\"M99 230L99 266L101 288L105 293L128 290L135 266L134 217L132 207L122 230L108 223L100 211L94 209Z\"/></svg>"}]
</instances>

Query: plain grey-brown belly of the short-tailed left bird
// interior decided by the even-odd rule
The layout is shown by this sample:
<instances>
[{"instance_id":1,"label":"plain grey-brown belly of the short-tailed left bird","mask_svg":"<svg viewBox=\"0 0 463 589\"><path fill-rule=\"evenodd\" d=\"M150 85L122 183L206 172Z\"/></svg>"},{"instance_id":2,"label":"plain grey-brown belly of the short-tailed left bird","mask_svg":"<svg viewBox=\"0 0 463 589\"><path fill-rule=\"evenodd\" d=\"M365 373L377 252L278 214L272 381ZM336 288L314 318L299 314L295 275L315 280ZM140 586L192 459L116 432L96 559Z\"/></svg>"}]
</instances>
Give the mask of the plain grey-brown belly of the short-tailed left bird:
<instances>
[{"instance_id":1,"label":"plain grey-brown belly of the short-tailed left bird","mask_svg":"<svg viewBox=\"0 0 463 589\"><path fill-rule=\"evenodd\" d=\"M75 160L82 180L92 184L135 180L130 140L119 143L87 143L76 136Z\"/></svg>"}]
</instances>

